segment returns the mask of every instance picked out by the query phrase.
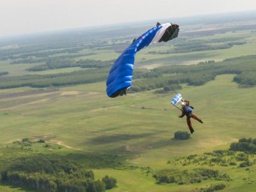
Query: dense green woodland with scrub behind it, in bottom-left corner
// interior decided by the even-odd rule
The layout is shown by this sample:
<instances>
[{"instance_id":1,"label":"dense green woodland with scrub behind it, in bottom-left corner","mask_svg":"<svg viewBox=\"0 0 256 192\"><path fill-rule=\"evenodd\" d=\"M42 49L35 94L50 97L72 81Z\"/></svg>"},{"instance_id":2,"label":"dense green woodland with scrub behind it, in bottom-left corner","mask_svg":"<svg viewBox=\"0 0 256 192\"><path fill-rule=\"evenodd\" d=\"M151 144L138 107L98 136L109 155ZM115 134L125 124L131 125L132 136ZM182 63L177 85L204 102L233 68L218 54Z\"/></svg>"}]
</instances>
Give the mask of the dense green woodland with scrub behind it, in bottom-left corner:
<instances>
[{"instance_id":1,"label":"dense green woodland with scrub behind it, in bottom-left corner","mask_svg":"<svg viewBox=\"0 0 256 192\"><path fill-rule=\"evenodd\" d=\"M93 171L84 169L72 156L33 154L33 146L40 143L42 148L51 148L42 139L24 138L1 149L1 182L51 192L100 192L116 187L116 179L105 175L102 180L95 180ZM16 158L7 154L13 152L17 153Z\"/></svg>"}]
</instances>

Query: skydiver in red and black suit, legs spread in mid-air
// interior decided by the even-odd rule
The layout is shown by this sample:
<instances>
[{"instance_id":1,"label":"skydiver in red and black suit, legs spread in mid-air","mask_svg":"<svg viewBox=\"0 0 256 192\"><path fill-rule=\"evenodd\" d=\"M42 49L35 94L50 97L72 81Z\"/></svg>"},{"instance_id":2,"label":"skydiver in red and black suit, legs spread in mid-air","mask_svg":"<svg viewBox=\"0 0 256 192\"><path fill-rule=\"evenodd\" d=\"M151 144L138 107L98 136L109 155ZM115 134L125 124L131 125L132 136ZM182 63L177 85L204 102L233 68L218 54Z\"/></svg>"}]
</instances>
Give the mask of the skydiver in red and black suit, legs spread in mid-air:
<instances>
[{"instance_id":1,"label":"skydiver in red and black suit, legs spread in mid-air","mask_svg":"<svg viewBox=\"0 0 256 192\"><path fill-rule=\"evenodd\" d=\"M192 134L195 130L192 127L190 118L192 117L193 119L197 120L201 124L203 124L204 122L202 120L200 120L200 118L198 118L197 116L193 115L192 111L193 111L194 108L192 106L189 106L189 100L182 100L181 107L182 108L180 110L182 111L182 113L179 116L179 118L182 118L185 115L187 116L188 128L189 128L189 131Z\"/></svg>"}]
</instances>

